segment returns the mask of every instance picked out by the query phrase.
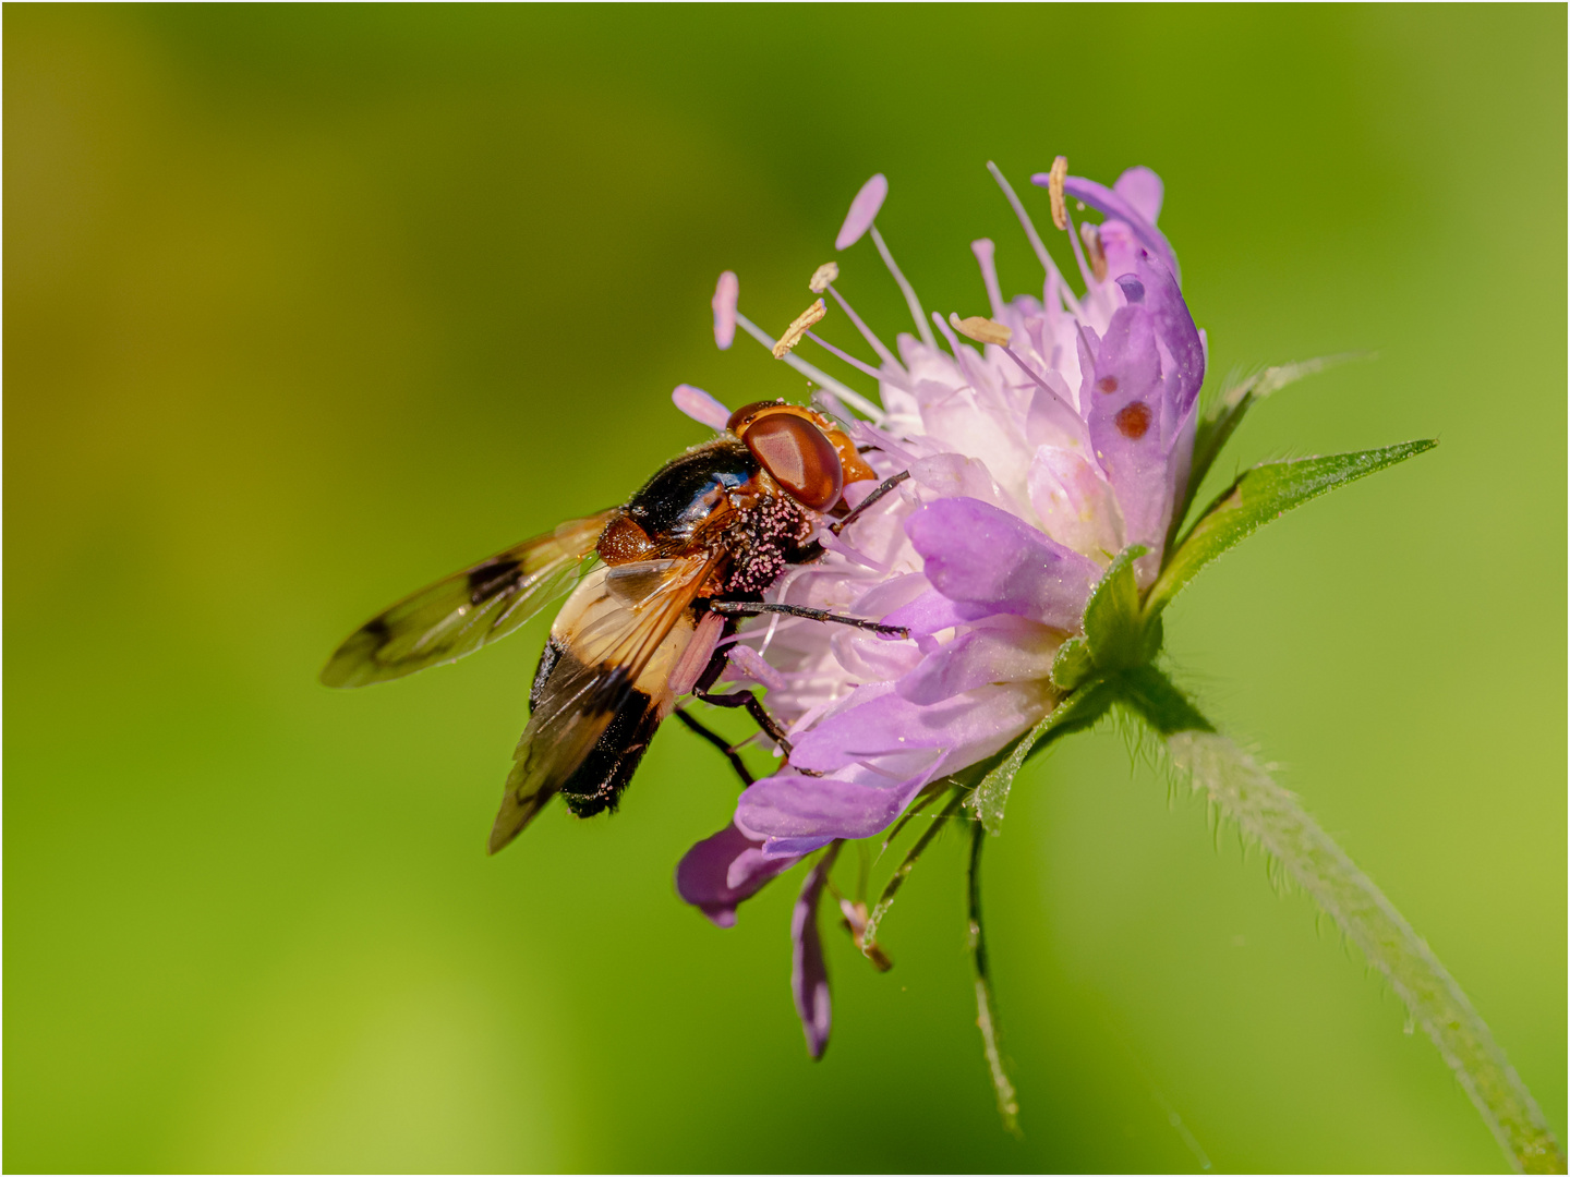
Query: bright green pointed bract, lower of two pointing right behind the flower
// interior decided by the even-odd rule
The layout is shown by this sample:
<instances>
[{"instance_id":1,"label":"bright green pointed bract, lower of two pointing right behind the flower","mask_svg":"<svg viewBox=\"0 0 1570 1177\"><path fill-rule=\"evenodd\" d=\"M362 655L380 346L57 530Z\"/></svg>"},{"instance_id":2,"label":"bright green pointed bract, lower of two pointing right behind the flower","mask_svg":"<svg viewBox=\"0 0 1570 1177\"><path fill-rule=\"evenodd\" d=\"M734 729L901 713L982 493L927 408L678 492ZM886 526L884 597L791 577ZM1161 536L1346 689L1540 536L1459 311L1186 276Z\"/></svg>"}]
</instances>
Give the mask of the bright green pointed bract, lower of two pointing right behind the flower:
<instances>
[{"instance_id":1,"label":"bright green pointed bract, lower of two pointing right behind the flower","mask_svg":"<svg viewBox=\"0 0 1570 1177\"><path fill-rule=\"evenodd\" d=\"M1157 617L1210 560L1248 538L1256 529L1313 497L1367 474L1394 466L1438 446L1438 441L1407 441L1400 446L1328 458L1302 458L1254 466L1206 508L1178 545L1145 599L1148 617ZM1121 559L1121 557L1119 557ZM1090 615L1085 618L1090 631ZM1094 648L1094 639L1091 639ZM1101 662L1097 656L1097 664Z\"/></svg>"}]
</instances>

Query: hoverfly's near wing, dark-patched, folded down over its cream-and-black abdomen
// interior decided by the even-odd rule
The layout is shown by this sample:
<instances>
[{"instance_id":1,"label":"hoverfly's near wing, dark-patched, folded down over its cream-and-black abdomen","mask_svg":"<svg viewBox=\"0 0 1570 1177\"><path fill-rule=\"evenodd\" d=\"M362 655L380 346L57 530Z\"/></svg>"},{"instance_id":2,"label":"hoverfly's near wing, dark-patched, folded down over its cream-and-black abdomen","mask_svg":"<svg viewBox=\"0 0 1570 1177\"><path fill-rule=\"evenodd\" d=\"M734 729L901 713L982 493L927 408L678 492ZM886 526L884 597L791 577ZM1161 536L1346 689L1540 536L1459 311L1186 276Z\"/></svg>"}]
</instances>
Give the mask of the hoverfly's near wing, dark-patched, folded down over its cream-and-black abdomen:
<instances>
[{"instance_id":1,"label":"hoverfly's near wing, dark-patched, folded down over its cream-and-black abdomen","mask_svg":"<svg viewBox=\"0 0 1570 1177\"><path fill-rule=\"evenodd\" d=\"M513 753L491 854L517 838L584 763L721 559L699 552L597 568L584 578L557 618L564 650Z\"/></svg>"}]
</instances>

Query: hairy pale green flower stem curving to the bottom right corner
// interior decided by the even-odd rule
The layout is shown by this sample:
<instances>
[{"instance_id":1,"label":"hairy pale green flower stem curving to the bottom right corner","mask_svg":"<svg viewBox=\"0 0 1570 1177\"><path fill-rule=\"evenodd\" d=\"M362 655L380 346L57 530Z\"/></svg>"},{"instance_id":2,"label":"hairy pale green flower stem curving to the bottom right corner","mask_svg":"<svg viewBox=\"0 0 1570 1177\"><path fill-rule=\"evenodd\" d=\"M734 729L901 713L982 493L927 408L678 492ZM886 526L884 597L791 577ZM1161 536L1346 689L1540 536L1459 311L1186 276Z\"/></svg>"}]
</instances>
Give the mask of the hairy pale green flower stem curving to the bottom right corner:
<instances>
[{"instance_id":1,"label":"hairy pale green flower stem curving to the bottom right corner","mask_svg":"<svg viewBox=\"0 0 1570 1177\"><path fill-rule=\"evenodd\" d=\"M1129 676L1123 698L1162 736L1167 755L1206 797L1280 862L1378 968L1433 1039L1518 1172L1565 1172L1542 1110L1433 951L1248 753L1209 722L1159 672Z\"/></svg>"}]
</instances>

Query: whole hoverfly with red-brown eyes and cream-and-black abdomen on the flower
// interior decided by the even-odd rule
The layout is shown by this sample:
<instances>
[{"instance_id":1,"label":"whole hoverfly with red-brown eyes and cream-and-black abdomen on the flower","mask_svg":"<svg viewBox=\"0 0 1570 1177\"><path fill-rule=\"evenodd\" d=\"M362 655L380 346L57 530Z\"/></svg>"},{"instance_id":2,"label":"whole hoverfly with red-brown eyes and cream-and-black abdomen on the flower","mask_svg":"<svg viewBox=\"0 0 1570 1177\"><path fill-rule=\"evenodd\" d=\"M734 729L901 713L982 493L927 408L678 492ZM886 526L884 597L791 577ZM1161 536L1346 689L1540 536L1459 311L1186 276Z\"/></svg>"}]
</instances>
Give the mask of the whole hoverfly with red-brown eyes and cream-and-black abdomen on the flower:
<instances>
[{"instance_id":1,"label":"whole hoverfly with red-brown eyes and cream-and-black abdomen on the flower","mask_svg":"<svg viewBox=\"0 0 1570 1177\"><path fill-rule=\"evenodd\" d=\"M788 755L785 733L757 695L708 694L725 664L716 643L736 618L768 612L906 636L763 601L787 568L823 554L812 540L820 524L832 519L837 534L906 476L887 479L849 510L845 486L876 477L831 417L782 400L755 402L730 416L725 433L666 463L622 507L524 540L371 618L333 653L322 683L367 686L452 662L510 634L579 576L540 654L491 854L557 793L581 818L614 808L655 730L688 691L744 706Z\"/></svg>"}]
</instances>

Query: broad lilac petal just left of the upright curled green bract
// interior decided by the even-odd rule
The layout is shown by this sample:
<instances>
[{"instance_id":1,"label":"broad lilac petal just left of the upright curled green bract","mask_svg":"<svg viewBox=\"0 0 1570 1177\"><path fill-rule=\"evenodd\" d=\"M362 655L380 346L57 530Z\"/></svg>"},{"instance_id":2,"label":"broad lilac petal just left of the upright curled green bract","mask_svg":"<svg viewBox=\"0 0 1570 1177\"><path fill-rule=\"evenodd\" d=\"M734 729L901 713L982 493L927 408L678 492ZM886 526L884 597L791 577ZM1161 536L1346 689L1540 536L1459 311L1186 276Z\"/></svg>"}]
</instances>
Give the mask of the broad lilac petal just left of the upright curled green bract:
<instances>
[{"instance_id":1,"label":"broad lilac petal just left of the upright curled green bract","mask_svg":"<svg viewBox=\"0 0 1570 1177\"><path fill-rule=\"evenodd\" d=\"M980 499L939 499L906 521L926 579L951 601L1074 629L1101 568Z\"/></svg>"}]
</instances>

